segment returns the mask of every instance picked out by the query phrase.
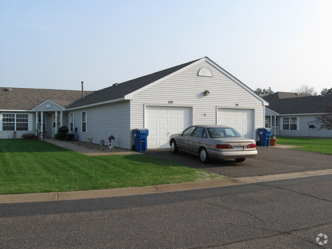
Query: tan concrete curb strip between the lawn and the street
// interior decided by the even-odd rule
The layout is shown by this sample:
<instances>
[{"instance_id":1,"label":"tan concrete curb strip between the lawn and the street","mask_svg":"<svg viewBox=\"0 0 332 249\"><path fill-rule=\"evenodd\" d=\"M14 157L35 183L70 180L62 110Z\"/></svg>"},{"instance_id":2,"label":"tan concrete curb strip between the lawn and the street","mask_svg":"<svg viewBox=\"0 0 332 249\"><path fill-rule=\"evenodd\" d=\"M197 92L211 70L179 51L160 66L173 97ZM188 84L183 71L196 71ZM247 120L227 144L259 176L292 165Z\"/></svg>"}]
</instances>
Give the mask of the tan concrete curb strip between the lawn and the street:
<instances>
[{"instance_id":1,"label":"tan concrete curb strip between the lawn and the street","mask_svg":"<svg viewBox=\"0 0 332 249\"><path fill-rule=\"evenodd\" d=\"M157 193L186 191L194 189L254 184L261 182L270 182L273 180L296 179L296 178L329 175L329 174L332 174L332 169L293 172L293 173L264 175L264 176L237 177L231 179L205 180L202 182L164 184L164 185L146 186L146 187L101 189L101 190L72 191L72 192L7 194L7 195L0 195L0 203L77 200L77 199L92 199L92 198L104 198L104 197L128 196L128 195L157 194Z\"/></svg>"}]
</instances>

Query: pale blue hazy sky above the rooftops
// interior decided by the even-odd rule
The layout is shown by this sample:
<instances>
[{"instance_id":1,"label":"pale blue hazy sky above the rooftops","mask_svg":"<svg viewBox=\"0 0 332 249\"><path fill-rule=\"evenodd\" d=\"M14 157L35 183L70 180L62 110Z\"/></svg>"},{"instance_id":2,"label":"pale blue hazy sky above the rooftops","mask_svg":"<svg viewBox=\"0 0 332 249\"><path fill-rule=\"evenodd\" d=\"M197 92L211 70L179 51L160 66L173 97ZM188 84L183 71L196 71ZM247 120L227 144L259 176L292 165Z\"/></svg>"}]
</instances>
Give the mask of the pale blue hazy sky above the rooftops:
<instances>
[{"instance_id":1,"label":"pale blue hazy sky above the rooftops","mask_svg":"<svg viewBox=\"0 0 332 249\"><path fill-rule=\"evenodd\" d=\"M255 89L332 87L332 1L0 0L0 86L98 90L208 56Z\"/></svg>"}]
</instances>

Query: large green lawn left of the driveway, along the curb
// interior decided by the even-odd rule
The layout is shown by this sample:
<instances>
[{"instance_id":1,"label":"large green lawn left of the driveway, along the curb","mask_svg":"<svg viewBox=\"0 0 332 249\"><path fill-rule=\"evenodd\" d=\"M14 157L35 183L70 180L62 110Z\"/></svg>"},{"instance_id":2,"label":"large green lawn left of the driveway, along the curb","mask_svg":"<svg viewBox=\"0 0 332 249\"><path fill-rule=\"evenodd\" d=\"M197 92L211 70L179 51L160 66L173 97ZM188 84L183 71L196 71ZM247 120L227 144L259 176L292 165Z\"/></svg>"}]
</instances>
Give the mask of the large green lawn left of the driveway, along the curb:
<instances>
[{"instance_id":1,"label":"large green lawn left of the driveway, along the curb","mask_svg":"<svg viewBox=\"0 0 332 249\"><path fill-rule=\"evenodd\" d=\"M137 187L222 177L146 155L87 156L40 140L0 140L0 194Z\"/></svg>"}]
</instances>

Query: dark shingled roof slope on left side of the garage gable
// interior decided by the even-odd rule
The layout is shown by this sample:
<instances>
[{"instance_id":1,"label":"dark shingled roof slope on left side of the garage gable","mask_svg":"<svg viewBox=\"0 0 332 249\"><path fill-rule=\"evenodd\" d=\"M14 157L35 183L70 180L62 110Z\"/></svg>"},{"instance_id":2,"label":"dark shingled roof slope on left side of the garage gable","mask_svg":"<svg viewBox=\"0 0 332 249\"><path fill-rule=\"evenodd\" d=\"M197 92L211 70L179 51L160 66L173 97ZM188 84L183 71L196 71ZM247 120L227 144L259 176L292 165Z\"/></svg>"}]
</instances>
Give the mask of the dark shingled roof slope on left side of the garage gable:
<instances>
[{"instance_id":1,"label":"dark shingled roof slope on left side of the garage gable","mask_svg":"<svg viewBox=\"0 0 332 249\"><path fill-rule=\"evenodd\" d=\"M201 58L200 58L201 59ZM200 60L197 59L197 60ZM86 96L84 99L79 99L74 103L70 104L68 108L74 108L78 106L90 105L94 103L104 102L108 100L118 99L124 97L127 94L135 92L136 90L157 81L167 75L170 75L183 67L190 65L191 63L197 61L193 60L181 65L170 67L169 69L165 69L153 74L149 74L146 76L142 76L137 79L128 80L118 85L112 85L101 90L94 92L93 94Z\"/></svg>"}]
</instances>

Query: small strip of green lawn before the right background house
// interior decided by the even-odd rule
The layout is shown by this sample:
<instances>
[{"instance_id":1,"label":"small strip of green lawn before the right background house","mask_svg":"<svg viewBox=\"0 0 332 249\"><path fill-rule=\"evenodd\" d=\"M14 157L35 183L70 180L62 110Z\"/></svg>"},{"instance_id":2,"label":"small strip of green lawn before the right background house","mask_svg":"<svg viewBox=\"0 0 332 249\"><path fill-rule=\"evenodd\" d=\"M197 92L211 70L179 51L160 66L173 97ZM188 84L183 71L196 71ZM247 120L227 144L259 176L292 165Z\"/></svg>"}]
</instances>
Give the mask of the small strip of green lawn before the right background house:
<instances>
[{"instance_id":1,"label":"small strip of green lawn before the right background house","mask_svg":"<svg viewBox=\"0 0 332 249\"><path fill-rule=\"evenodd\" d=\"M310 138L291 138L277 137L277 144L300 145L294 149L323 154L332 154L332 139L310 139Z\"/></svg>"}]
</instances>

